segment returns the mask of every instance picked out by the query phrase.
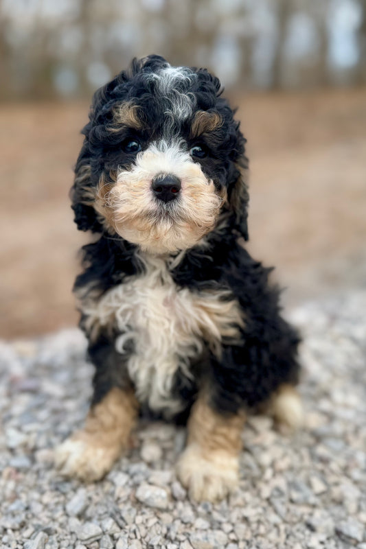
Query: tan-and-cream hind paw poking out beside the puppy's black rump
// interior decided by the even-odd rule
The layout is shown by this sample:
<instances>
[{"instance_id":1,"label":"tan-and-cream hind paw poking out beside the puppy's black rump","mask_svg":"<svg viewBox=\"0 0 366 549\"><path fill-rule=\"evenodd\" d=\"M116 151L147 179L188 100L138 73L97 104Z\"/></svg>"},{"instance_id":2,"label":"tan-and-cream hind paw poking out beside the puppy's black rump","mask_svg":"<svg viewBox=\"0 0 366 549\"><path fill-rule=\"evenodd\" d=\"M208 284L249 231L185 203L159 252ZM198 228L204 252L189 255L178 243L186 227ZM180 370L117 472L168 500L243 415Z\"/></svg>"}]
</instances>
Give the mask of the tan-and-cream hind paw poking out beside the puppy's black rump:
<instances>
[{"instance_id":1,"label":"tan-and-cream hind paw poking out beside the puppy's black rump","mask_svg":"<svg viewBox=\"0 0 366 549\"><path fill-rule=\"evenodd\" d=\"M304 423L304 410L296 388L283 384L271 397L268 413L273 416L282 432L291 432Z\"/></svg>"}]
</instances>

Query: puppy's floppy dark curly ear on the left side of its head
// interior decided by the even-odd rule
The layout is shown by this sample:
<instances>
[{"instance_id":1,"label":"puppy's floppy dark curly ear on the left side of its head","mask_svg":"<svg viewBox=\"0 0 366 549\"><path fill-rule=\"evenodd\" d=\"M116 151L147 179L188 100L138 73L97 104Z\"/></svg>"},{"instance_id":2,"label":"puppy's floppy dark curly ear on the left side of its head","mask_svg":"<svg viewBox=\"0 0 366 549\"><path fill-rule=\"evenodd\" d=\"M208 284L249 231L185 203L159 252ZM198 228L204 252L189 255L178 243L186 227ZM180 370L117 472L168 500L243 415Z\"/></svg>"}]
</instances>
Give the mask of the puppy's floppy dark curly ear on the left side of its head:
<instances>
[{"instance_id":1,"label":"puppy's floppy dark curly ear on the left side of its head","mask_svg":"<svg viewBox=\"0 0 366 549\"><path fill-rule=\"evenodd\" d=\"M79 231L102 232L97 213L93 208L94 194L91 181L91 165L87 139L82 145L75 167L75 179L70 191L71 208L75 213L74 221Z\"/></svg>"}]
</instances>

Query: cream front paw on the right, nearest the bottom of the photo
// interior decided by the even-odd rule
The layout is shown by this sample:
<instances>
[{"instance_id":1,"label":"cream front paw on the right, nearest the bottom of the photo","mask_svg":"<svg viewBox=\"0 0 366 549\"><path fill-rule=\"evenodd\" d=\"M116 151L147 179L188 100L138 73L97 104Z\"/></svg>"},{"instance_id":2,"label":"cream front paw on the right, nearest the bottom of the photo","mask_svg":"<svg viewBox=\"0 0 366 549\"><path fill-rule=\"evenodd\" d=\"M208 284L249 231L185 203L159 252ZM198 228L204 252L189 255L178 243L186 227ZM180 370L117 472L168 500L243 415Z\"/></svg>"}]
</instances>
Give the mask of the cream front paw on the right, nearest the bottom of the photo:
<instances>
[{"instance_id":1,"label":"cream front paw on the right, nearest the bottom of the photo","mask_svg":"<svg viewBox=\"0 0 366 549\"><path fill-rule=\"evenodd\" d=\"M189 445L176 465L176 474L196 501L216 502L239 482L238 457L224 450L203 455L197 444Z\"/></svg>"}]
</instances>

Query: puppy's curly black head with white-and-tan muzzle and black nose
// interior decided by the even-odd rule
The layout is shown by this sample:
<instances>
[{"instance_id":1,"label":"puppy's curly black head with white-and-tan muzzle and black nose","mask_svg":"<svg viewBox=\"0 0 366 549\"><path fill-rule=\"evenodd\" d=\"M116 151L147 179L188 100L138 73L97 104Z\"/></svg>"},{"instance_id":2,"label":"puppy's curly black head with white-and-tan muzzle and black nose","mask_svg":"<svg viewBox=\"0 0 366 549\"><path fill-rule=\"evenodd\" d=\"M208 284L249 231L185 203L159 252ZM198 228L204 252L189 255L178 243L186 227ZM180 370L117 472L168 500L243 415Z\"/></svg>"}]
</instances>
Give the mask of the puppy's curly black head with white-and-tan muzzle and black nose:
<instances>
[{"instance_id":1,"label":"puppy's curly black head with white-and-tan muzzle and black nose","mask_svg":"<svg viewBox=\"0 0 366 549\"><path fill-rule=\"evenodd\" d=\"M97 92L74 200L104 231L163 254L214 229L243 152L219 88L207 71L150 56Z\"/></svg>"}]
</instances>

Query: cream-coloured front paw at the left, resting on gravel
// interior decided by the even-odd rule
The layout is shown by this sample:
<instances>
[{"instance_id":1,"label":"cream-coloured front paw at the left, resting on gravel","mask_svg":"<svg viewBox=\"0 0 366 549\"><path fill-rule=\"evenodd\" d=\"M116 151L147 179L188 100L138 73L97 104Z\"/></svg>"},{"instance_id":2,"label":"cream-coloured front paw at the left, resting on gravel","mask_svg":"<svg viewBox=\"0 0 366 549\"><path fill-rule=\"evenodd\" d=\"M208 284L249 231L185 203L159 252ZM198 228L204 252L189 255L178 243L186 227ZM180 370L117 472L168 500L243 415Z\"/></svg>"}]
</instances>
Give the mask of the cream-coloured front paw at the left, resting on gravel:
<instances>
[{"instance_id":1,"label":"cream-coloured front paw at the left, resting on gravel","mask_svg":"<svg viewBox=\"0 0 366 549\"><path fill-rule=\"evenodd\" d=\"M119 445L101 445L98 437L78 431L55 449L55 465L64 476L93 482L111 470L120 450Z\"/></svg>"}]
</instances>

